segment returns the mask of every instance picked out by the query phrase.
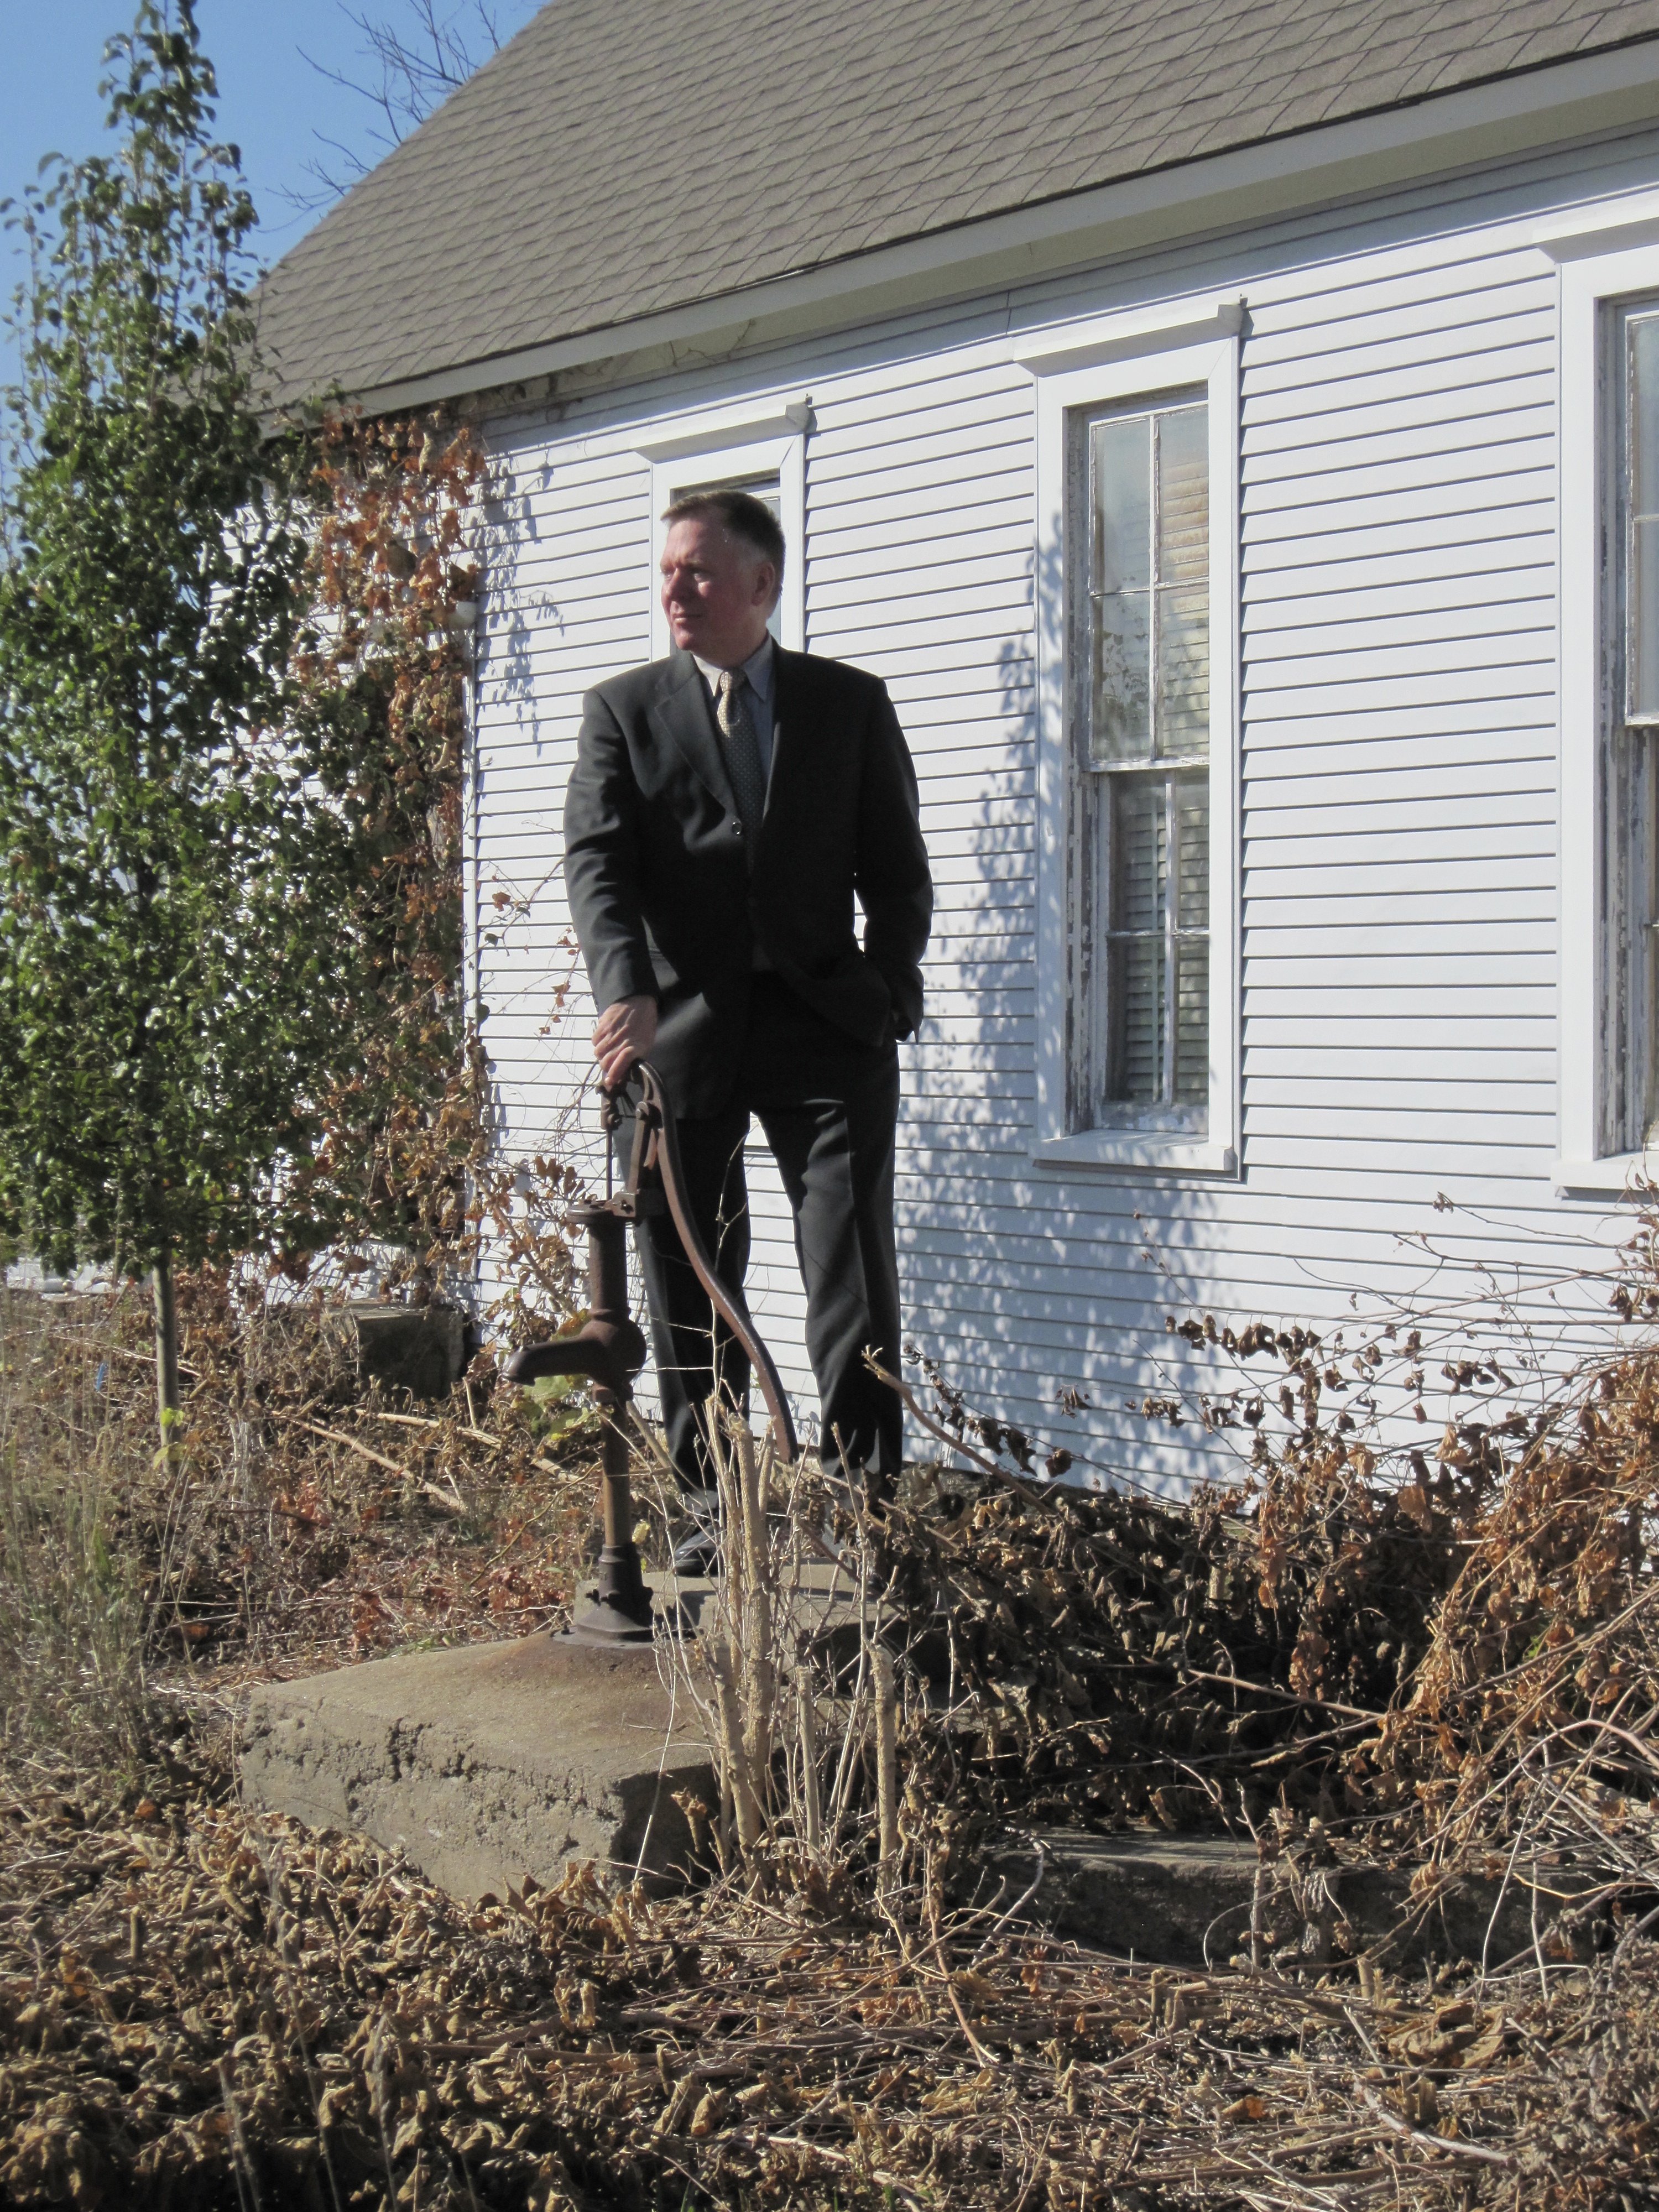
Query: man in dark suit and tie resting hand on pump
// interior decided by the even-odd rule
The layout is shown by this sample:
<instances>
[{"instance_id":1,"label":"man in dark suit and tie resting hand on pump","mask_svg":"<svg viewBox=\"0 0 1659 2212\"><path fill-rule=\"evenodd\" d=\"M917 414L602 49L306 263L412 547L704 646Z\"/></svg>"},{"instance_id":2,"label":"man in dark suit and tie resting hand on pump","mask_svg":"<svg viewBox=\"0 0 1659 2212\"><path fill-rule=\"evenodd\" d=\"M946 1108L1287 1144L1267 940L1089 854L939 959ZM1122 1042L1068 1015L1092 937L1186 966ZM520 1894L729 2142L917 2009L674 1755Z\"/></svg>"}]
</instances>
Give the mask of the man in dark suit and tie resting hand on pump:
<instances>
[{"instance_id":1,"label":"man in dark suit and tie resting hand on pump","mask_svg":"<svg viewBox=\"0 0 1659 2212\"><path fill-rule=\"evenodd\" d=\"M759 1117L794 1210L825 1464L900 1464L894 1128L898 1037L922 1013L933 887L916 772L885 686L768 635L783 531L743 491L668 509L675 650L588 692L564 880L606 1084L650 1060L677 1106L690 1206L741 1298L743 1139ZM854 931L863 907L863 945ZM639 1225L657 1387L679 1480L708 1493L703 1407L748 1360L672 1223Z\"/></svg>"}]
</instances>

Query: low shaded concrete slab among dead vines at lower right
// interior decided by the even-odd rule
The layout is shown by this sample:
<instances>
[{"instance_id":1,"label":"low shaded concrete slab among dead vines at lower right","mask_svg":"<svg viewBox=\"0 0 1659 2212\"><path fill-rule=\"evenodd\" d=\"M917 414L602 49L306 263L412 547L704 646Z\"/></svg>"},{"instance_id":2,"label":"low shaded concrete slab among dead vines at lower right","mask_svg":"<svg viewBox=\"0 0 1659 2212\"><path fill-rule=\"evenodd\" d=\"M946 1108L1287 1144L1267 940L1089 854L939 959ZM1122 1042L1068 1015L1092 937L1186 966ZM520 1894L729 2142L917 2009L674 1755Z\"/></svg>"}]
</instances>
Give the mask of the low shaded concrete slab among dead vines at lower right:
<instances>
[{"instance_id":1,"label":"low shaded concrete slab among dead vines at lower right","mask_svg":"<svg viewBox=\"0 0 1659 2212\"><path fill-rule=\"evenodd\" d=\"M1055 1933L1104 1951L1170 1966L1225 1964L1250 1947L1256 1849L1228 1836L1084 1836L1053 1829L1037 1838L1048 1858L1033 1913ZM1022 1876L1024 1867L1024 1876ZM1035 1871L1033 1856L1009 1863L1013 1893ZM1531 1898L1524 1889L1467 1878L1427 1913L1411 1911L1411 1867L1327 1867L1332 1900L1358 1949L1387 1966L1429 1960L1480 1960L1491 1966L1531 1949ZM1283 1876L1281 1876L1283 1880ZM1283 1902L1281 1902L1283 1898ZM1283 1891L1270 1896L1276 1947L1298 1940L1301 1920Z\"/></svg>"}]
</instances>

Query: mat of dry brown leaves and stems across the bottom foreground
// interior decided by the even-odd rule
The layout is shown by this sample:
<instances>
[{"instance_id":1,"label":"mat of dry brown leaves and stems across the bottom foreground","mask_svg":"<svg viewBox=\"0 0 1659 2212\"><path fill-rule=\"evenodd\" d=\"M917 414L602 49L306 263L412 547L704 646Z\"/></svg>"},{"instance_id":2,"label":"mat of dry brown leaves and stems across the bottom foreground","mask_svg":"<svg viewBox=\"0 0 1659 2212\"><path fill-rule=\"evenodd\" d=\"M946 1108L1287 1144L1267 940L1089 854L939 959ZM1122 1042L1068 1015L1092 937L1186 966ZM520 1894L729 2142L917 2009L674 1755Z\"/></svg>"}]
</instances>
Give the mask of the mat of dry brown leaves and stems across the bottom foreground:
<instances>
[{"instance_id":1,"label":"mat of dry brown leaves and stems across the bottom foreground","mask_svg":"<svg viewBox=\"0 0 1659 2212\"><path fill-rule=\"evenodd\" d=\"M1650 1944L1360 1989L586 1869L471 1909L188 1759L117 1803L31 1774L0 1878L11 2203L1652 2203Z\"/></svg>"}]
</instances>

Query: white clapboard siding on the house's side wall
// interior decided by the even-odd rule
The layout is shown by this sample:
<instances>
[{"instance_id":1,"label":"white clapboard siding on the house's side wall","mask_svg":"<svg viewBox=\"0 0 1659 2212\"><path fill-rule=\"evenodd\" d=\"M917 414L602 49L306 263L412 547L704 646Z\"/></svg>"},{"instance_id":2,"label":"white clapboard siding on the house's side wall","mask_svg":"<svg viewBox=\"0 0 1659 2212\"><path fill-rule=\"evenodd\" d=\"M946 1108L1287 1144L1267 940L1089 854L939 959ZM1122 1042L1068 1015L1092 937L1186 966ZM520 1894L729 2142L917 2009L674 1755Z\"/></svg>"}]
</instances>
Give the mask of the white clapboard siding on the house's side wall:
<instances>
[{"instance_id":1,"label":"white clapboard siding on the house's side wall","mask_svg":"<svg viewBox=\"0 0 1659 2212\"><path fill-rule=\"evenodd\" d=\"M1141 1411L1239 1380L1168 1336L1170 1312L1352 1327L1358 1296L1451 1325L1478 1314L1491 1261L1546 1314L1546 1281L1608 1232L1551 1181L1557 327L1531 234L1597 177L1655 181L1644 161L1659 153L1515 164L1462 199L1425 188L1133 272L1135 299L1159 281L1248 299L1239 1179L1031 1159L1033 385L1002 334L1113 307L1110 272L502 422L478 953L509 1150L602 1172L560 814L582 692L648 650L637 425L661 436L675 409L810 389L792 549L807 644L887 681L936 874L927 1020L902 1048L914 1340L1040 1451L1157 1489L1228 1478L1248 1444ZM759 1150L750 1186L752 1305L810 1416L787 1208ZM1562 1290L1540 1340L1575 1340L1588 1301ZM1279 1371L1254 1363L1248 1380L1272 1391ZM1084 1416L1060 1411L1062 1385L1088 1391Z\"/></svg>"}]
</instances>

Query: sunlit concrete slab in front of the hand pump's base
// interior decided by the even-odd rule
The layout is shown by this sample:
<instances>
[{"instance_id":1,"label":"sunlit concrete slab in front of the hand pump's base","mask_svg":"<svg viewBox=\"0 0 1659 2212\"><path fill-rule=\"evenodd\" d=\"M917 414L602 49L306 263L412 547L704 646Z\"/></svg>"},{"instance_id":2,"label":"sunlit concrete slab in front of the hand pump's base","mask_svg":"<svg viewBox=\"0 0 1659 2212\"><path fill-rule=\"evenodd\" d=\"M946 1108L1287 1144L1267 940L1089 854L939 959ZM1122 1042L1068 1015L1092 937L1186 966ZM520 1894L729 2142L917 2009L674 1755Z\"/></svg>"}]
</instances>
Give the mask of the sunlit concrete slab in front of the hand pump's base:
<instances>
[{"instance_id":1,"label":"sunlit concrete slab in front of the hand pump's base","mask_svg":"<svg viewBox=\"0 0 1659 2212\"><path fill-rule=\"evenodd\" d=\"M248 1801L403 1849L462 1898L573 1858L653 1887L690 1863L675 1805L717 1805L701 1723L670 1708L650 1646L535 1635L265 1683L248 1699Z\"/></svg>"}]
</instances>

